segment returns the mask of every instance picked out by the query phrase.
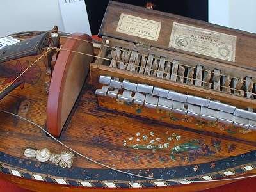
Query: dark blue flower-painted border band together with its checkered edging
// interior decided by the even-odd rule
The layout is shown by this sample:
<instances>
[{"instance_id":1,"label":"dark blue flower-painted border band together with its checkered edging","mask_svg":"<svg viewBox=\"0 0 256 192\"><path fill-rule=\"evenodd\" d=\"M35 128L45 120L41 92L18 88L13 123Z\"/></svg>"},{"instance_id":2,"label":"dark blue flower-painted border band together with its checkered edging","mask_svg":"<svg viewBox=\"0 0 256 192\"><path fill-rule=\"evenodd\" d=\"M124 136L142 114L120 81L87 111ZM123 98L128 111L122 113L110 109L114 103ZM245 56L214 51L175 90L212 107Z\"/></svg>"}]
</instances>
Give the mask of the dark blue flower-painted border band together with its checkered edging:
<instances>
[{"instance_id":1,"label":"dark blue flower-painted border band together with its checkered edging","mask_svg":"<svg viewBox=\"0 0 256 192\"><path fill-rule=\"evenodd\" d=\"M8 154L4 154L0 152L0 172L5 174L14 175L17 177L23 177L24 179L34 179L42 182L51 182L56 184L64 184L64 185L71 185L71 186L84 186L84 187L97 187L97 188L147 188L147 187L160 187L160 186L173 186L179 184L190 184L189 180L212 180L212 179L221 179L223 177L236 175L237 173L245 173L250 170L254 170L256 168L256 151L248 152L246 154L241 154L239 156L229 157L227 159L222 159L220 162L216 161L216 164L223 164L223 162L230 162L234 163L235 160L237 161L236 166L232 166L232 164L226 164L229 166L223 166L223 168L219 171L212 171L209 173L201 174L200 173L193 173L189 168L193 168L195 165L191 166L183 166L181 167L182 170L188 170L187 177L184 179L180 179L179 182L163 182L157 180L147 180L141 178L135 178L131 175L127 176L125 179L120 178L120 175L115 174L122 174L122 173L115 173L112 170L108 169L97 169L98 177L89 177L90 172L95 173L95 169L84 169L84 168L73 168L71 170L66 170L55 166L54 164L48 163L41 163L36 164L38 162L31 161L30 159L20 159L17 157L10 156ZM241 160L244 161L241 161ZM30 162L30 163L29 163ZM244 163L243 163L244 162ZM201 167L206 166L209 163L202 163L200 164ZM24 166L26 165L26 166ZM55 169L58 172L47 172L44 171L44 168L47 170ZM83 170L83 179L79 178L79 175L76 175L78 172L76 170ZM157 168L154 169L154 172L163 172L164 168ZM175 171L175 168L166 168L167 173L172 173ZM177 170L177 168L176 168ZM41 171L41 172L40 172ZM138 172L138 170L126 170L127 172ZM65 173L66 172L66 173ZM69 173L68 177L67 172ZM164 170L164 172L166 172ZM191 173L191 174L189 174ZM183 173L180 172L179 175ZM60 177L62 175L62 177ZM198 176L200 175L200 176ZM64 177L63 177L64 176ZM81 176L81 175L80 175ZM129 176L129 177L128 177ZM157 175L156 177L161 178L161 175ZM177 175L176 175L177 177ZM119 180L115 180L118 178ZM182 177L180 177L182 178ZM163 179L173 179L172 174L169 177L163 177Z\"/></svg>"}]
</instances>

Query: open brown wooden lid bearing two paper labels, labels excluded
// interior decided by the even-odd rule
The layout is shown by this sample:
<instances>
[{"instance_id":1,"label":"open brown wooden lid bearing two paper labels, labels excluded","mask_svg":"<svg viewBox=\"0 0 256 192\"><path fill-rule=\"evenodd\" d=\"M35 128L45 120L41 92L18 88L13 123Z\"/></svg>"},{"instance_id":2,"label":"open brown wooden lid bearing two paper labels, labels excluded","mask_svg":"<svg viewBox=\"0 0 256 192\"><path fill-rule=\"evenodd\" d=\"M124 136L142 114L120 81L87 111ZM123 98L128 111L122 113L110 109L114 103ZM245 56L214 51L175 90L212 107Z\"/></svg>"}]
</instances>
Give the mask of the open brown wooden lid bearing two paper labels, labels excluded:
<instances>
[{"instance_id":1,"label":"open brown wooden lid bearing two paper labels, labels excluded","mask_svg":"<svg viewBox=\"0 0 256 192\"><path fill-rule=\"evenodd\" d=\"M134 15L136 17L141 17L143 19L151 19L157 22L161 22L161 31L159 34L159 39L147 40L145 38L140 38L137 36L127 35L124 33L118 33L116 27L118 25L118 20L120 19L121 13L127 15ZM236 61L230 62L225 60L220 60L212 58L209 56L203 56L201 54L195 54L188 51L180 51L179 49L173 49L169 47L169 40L172 31L173 22L179 22L182 24L188 24L190 26L195 26L198 28L209 29L212 31L218 31L221 33L226 33L229 35L237 36L236 45ZM220 61L221 63L228 63L228 65L237 66L241 68L248 68L251 70L256 70L255 68L255 56L256 51L256 38L253 33L246 33L244 31L239 31L236 29L225 28L223 26L218 26L215 24L209 24L208 22L203 22L200 20L189 19L187 17L181 17L179 15L173 15L170 13L159 12L156 10L148 10L138 6L132 6L131 4L118 3L115 1L110 1L109 6L106 10L102 26L100 28L99 34L102 36L109 36L113 38L118 38L122 40L127 40L128 42L141 41L143 43L149 43L152 47L157 47L161 49L167 49L175 52L182 52L184 54L196 56L199 58L207 58L208 60Z\"/></svg>"}]
</instances>

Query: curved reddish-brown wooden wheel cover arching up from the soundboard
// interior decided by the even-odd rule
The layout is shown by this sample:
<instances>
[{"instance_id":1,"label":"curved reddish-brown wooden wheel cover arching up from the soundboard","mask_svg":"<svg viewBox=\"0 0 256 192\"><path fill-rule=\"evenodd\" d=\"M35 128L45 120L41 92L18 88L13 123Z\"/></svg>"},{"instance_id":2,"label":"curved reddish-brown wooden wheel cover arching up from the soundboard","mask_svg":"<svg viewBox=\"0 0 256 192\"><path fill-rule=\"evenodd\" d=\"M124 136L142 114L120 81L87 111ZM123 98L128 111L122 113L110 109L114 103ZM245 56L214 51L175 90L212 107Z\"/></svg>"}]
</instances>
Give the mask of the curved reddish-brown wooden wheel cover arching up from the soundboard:
<instances>
[{"instance_id":1,"label":"curved reddish-brown wooden wheel cover arching up from the soundboard","mask_svg":"<svg viewBox=\"0 0 256 192\"><path fill-rule=\"evenodd\" d=\"M70 37L91 41L90 36L82 33L75 33ZM52 74L47 104L47 130L56 137L60 136L93 60L90 56L65 51L71 50L92 55L92 43L68 39L62 49Z\"/></svg>"}]
</instances>

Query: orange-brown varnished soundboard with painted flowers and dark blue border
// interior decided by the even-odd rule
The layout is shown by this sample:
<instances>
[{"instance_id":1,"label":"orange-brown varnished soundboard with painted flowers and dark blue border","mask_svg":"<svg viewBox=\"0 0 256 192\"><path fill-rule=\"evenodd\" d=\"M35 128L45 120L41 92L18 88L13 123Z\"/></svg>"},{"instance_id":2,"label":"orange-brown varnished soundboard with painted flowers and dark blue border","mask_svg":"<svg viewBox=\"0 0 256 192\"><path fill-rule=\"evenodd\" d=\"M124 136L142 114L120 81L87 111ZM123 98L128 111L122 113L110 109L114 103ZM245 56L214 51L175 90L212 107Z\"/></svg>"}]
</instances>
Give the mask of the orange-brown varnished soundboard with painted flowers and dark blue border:
<instances>
[{"instance_id":1,"label":"orange-brown varnished soundboard with painted flowers and dark blue border","mask_svg":"<svg viewBox=\"0 0 256 192\"><path fill-rule=\"evenodd\" d=\"M24 58L1 65L1 89L8 82L7 74L13 74L15 70L18 72L20 66L26 67L27 62L31 63L33 60L35 60L33 57ZM45 127L47 107L47 95L44 88L45 68L41 62L32 69L33 73L24 76L26 81L24 88L15 90L1 100L1 109L24 116ZM9 80L10 78L12 76ZM204 180L201 177L203 175L217 179L225 177L224 173L232 172L234 174L231 176L241 176L255 172L254 150L256 147L255 142L252 141L255 134L253 131L228 130L225 127L216 127L214 124L208 126L209 122L202 122L199 125L200 130L188 129L186 127L186 121L189 123L188 118L177 119L170 114L168 114L169 118L175 121L175 124L164 124L164 122L149 118L141 118L140 113L147 109L138 110L125 103L120 106L124 105L125 108L134 110L134 114L107 110L99 106L94 94L95 88L88 82L89 79L84 84L83 92L59 138L60 141L84 156L116 169L159 179L188 177L188 180ZM164 182L166 186L159 187L154 183L155 180L140 179L111 171L77 154L72 170L60 168L51 163L38 163L23 155L26 148L49 148L57 153L67 149L46 136L38 127L4 113L1 113L0 118L1 171L12 175L12 170L17 170L22 177L29 180L10 177L10 175L3 175L3 177L20 185L22 181L22 186L35 191L49 191L55 188L78 191L83 188L81 181L92 185L92 187L83 189L95 189L96 191L113 190L106 183L115 184L116 189L127 190L132 188L131 183L138 183L141 186L140 189L148 189L148 191L156 190L154 188L163 191L168 191L170 188L177 191L195 191L226 183L184 185L184 182L183 184L182 182ZM182 125L177 124L179 121ZM204 129L206 124L207 130ZM216 129L225 134L214 134ZM250 141L237 139L239 135L243 140L250 138ZM151 149L147 149L150 140L154 140L154 144ZM182 152L173 153L175 147L187 145L197 146L198 150L192 150L189 152L190 155ZM38 182L33 175L40 175L45 181ZM63 179L69 187L64 188L64 185L56 184L56 178Z\"/></svg>"}]
</instances>

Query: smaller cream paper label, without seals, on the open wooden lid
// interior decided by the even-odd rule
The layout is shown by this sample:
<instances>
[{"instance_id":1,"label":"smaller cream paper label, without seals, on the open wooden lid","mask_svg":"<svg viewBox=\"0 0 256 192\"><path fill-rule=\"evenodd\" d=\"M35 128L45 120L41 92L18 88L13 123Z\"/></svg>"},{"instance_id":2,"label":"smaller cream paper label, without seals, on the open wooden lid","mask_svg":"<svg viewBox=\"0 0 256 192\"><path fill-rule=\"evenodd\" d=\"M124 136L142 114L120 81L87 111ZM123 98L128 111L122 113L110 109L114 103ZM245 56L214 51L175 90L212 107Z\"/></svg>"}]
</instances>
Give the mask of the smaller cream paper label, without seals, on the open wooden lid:
<instances>
[{"instance_id":1,"label":"smaller cream paper label, without seals, on the open wooden lid","mask_svg":"<svg viewBox=\"0 0 256 192\"><path fill-rule=\"evenodd\" d=\"M160 29L161 22L122 13L116 31L157 41Z\"/></svg>"}]
</instances>

